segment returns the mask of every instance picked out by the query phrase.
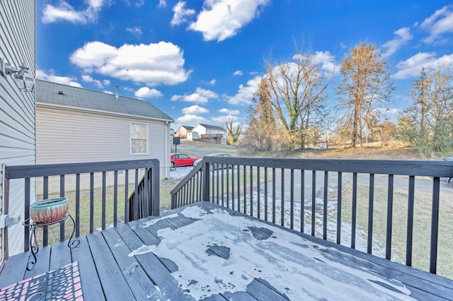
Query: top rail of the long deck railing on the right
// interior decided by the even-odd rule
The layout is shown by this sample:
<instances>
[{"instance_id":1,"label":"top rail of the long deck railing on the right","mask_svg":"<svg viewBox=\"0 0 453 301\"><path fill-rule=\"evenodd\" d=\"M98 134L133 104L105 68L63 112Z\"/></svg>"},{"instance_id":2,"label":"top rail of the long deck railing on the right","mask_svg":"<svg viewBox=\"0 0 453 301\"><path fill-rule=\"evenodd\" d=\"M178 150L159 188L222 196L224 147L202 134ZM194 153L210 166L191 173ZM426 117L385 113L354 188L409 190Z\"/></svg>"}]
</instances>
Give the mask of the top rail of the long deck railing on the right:
<instances>
[{"instance_id":1,"label":"top rail of the long deck railing on the right","mask_svg":"<svg viewBox=\"0 0 453 301\"><path fill-rule=\"evenodd\" d=\"M241 158L214 156L207 156L204 158L204 160L206 160L207 163L287 168L294 170L320 170L331 172L357 172L383 175L453 177L453 161L444 160L338 160L298 158Z\"/></svg>"}]
</instances>

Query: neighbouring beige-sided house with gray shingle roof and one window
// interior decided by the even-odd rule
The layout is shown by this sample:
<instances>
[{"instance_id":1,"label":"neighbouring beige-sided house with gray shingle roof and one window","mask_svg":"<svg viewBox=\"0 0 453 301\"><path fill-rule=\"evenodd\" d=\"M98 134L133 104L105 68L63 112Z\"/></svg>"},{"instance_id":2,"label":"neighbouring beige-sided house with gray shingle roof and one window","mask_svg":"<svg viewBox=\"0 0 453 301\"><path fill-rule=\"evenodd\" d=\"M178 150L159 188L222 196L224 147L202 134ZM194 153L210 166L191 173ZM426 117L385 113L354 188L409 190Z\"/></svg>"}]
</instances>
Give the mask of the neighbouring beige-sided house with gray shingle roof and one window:
<instances>
[{"instance_id":1,"label":"neighbouring beige-sided house with gray shingle roof and one window","mask_svg":"<svg viewBox=\"0 0 453 301\"><path fill-rule=\"evenodd\" d=\"M170 168L171 117L150 102L36 81L36 163L157 158Z\"/></svg>"}]
</instances>

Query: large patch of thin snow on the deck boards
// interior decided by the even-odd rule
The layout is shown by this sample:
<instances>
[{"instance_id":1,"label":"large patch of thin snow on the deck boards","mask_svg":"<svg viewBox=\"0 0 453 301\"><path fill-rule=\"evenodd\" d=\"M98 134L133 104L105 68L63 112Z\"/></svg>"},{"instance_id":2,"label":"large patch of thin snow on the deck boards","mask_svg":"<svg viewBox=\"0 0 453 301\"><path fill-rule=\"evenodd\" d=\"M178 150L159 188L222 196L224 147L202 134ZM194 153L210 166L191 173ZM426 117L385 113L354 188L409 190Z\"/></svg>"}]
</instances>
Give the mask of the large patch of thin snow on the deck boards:
<instances>
[{"instance_id":1,"label":"large patch of thin snow on the deck boards","mask_svg":"<svg viewBox=\"0 0 453 301\"><path fill-rule=\"evenodd\" d=\"M208 213L200 206L190 206L181 214L198 220L173 230L161 229L159 245L142 248L155 247L154 254L173 261L178 266L173 277L196 300L244 292L255 278L268 281L290 300L412 300L411 291L402 283L344 262L362 259L286 230L231 216L222 208ZM253 227L267 228L273 235L257 240L250 230ZM229 258L207 254L214 244L228 247ZM139 253L142 248L132 253L143 254Z\"/></svg>"}]
</instances>

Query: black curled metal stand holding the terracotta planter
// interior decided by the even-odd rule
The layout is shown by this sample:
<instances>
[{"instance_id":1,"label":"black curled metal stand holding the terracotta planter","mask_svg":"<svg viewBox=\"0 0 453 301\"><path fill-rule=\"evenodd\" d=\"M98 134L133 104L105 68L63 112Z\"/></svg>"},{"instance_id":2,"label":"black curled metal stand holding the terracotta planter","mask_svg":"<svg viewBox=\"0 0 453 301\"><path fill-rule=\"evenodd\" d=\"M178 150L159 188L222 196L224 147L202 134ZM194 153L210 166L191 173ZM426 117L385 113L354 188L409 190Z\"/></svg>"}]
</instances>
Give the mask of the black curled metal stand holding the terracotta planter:
<instances>
[{"instance_id":1,"label":"black curled metal stand holding the terracotta planter","mask_svg":"<svg viewBox=\"0 0 453 301\"><path fill-rule=\"evenodd\" d=\"M64 216L64 217L59 218L58 220L52 220L52 222L49 222L49 223L33 223L33 221L32 221L32 223L27 224L26 222L29 221L30 219L25 220L25 222L23 222L23 225L25 225L25 227L30 227L30 242L29 242L30 255L28 256L27 271L33 270L33 268L35 267L36 261L38 261L36 254L38 254L40 247L38 244L38 239L36 238L36 228L38 227L38 228L52 229L52 228L57 227L58 225L64 224L64 222L67 220L67 218L71 218L71 220L72 220L72 233L71 233L71 237L69 238L68 247L69 247L69 249L73 249L79 245L80 240L73 240L74 232L76 232L76 222L74 221L74 218L72 218L72 216L69 213L67 213L66 216ZM58 224L58 225L55 225L55 224ZM53 225L53 226L50 227L50 225Z\"/></svg>"}]
</instances>

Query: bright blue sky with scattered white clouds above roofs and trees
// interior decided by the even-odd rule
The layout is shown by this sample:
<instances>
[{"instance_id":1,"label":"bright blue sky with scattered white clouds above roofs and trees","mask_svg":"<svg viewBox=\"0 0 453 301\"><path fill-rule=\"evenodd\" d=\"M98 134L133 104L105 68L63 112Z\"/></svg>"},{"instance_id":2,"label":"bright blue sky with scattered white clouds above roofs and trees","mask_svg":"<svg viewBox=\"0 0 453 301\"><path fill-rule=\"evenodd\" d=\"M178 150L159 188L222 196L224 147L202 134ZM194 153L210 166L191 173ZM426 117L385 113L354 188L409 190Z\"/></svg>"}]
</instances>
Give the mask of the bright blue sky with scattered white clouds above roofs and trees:
<instances>
[{"instance_id":1,"label":"bright blue sky with scattered white clouds above roofs and trees","mask_svg":"<svg viewBox=\"0 0 453 301\"><path fill-rule=\"evenodd\" d=\"M139 98L172 128L246 122L264 60L294 41L339 70L352 47L385 50L395 119L422 66L453 63L452 1L37 0L36 77ZM340 81L333 78L332 88ZM337 102L333 89L328 105ZM332 111L332 114L335 114Z\"/></svg>"}]
</instances>

